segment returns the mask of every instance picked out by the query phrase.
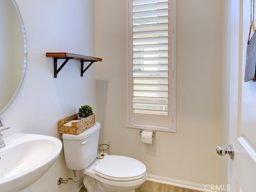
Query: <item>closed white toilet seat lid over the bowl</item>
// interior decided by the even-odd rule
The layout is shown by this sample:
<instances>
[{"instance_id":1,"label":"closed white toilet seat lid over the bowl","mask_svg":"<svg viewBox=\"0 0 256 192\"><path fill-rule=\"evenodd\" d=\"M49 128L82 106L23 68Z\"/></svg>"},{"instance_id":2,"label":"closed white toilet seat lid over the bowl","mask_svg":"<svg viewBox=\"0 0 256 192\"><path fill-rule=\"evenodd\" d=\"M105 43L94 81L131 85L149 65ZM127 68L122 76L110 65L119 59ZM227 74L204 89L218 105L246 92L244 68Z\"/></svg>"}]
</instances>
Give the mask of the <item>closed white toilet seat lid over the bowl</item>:
<instances>
[{"instance_id":1,"label":"closed white toilet seat lid over the bowl","mask_svg":"<svg viewBox=\"0 0 256 192\"><path fill-rule=\"evenodd\" d=\"M146 166L133 158L119 155L105 156L94 168L97 175L115 181L140 179L146 174Z\"/></svg>"}]
</instances>

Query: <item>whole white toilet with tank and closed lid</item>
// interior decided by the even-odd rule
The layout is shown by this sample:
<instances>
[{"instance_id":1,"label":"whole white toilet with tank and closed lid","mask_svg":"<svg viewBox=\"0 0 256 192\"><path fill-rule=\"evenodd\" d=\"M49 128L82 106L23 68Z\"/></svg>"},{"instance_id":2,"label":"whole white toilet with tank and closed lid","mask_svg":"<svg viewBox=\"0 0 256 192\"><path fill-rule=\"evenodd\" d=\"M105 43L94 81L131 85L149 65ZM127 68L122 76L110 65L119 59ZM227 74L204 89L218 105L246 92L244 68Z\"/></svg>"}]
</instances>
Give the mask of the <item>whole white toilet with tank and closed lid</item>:
<instances>
[{"instance_id":1,"label":"whole white toilet with tank and closed lid","mask_svg":"<svg viewBox=\"0 0 256 192\"><path fill-rule=\"evenodd\" d=\"M62 134L68 169L81 170L88 192L135 192L146 180L146 166L130 157L97 159L100 123L79 135Z\"/></svg>"}]
</instances>

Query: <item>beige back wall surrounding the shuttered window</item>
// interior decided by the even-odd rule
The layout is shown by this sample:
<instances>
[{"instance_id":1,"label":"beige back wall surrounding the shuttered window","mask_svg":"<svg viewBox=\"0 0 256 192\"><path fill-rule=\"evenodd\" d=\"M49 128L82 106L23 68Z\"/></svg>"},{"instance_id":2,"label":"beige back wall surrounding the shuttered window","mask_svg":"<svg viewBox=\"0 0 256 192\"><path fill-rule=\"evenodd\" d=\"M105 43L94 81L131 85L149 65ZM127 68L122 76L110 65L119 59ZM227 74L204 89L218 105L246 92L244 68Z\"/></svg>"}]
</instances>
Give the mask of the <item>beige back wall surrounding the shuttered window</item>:
<instances>
[{"instance_id":1,"label":"beige back wall surrounding the shuttered window","mask_svg":"<svg viewBox=\"0 0 256 192\"><path fill-rule=\"evenodd\" d=\"M126 2L95 0L100 142L142 161L148 174L219 184L222 1L177 0L177 132L157 131L152 145L126 128Z\"/></svg>"}]
</instances>

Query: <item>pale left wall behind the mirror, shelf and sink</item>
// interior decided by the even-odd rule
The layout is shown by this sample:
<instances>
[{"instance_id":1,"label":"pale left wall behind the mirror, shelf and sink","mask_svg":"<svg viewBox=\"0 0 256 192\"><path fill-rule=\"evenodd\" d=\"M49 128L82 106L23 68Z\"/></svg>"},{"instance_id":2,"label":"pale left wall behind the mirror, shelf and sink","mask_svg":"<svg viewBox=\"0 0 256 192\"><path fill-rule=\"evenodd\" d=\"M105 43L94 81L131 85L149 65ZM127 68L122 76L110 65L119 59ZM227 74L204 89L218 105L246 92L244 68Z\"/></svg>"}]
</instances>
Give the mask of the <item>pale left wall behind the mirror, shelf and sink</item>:
<instances>
[{"instance_id":1,"label":"pale left wall behind the mirror, shelf and sink","mask_svg":"<svg viewBox=\"0 0 256 192\"><path fill-rule=\"evenodd\" d=\"M53 59L46 52L94 55L94 0L16 0L27 36L28 62L22 88L2 114L11 129L4 137L25 132L61 138L58 120L74 114L83 104L96 110L94 66L80 77L80 63L70 60L53 78ZM100 56L99 56L100 57ZM97 63L98 64L98 63ZM72 177L60 154L48 172L27 192L70 192L76 184L57 185ZM78 174L81 180L82 174Z\"/></svg>"}]
</instances>

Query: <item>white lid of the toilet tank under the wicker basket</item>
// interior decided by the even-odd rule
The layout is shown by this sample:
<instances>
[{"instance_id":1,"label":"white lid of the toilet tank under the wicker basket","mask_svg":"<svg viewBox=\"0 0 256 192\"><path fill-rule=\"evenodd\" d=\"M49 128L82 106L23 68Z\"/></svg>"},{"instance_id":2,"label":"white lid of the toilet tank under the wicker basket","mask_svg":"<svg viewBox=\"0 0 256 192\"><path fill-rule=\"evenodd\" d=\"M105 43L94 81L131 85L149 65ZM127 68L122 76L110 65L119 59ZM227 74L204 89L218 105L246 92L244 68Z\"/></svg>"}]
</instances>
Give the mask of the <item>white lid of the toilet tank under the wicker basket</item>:
<instances>
[{"instance_id":1,"label":"white lid of the toilet tank under the wicker basket","mask_svg":"<svg viewBox=\"0 0 256 192\"><path fill-rule=\"evenodd\" d=\"M88 138L98 130L100 130L100 123L96 122L94 126L91 126L90 128L86 129L84 132L80 133L79 135L62 134L62 139L81 140L81 139Z\"/></svg>"}]
</instances>

